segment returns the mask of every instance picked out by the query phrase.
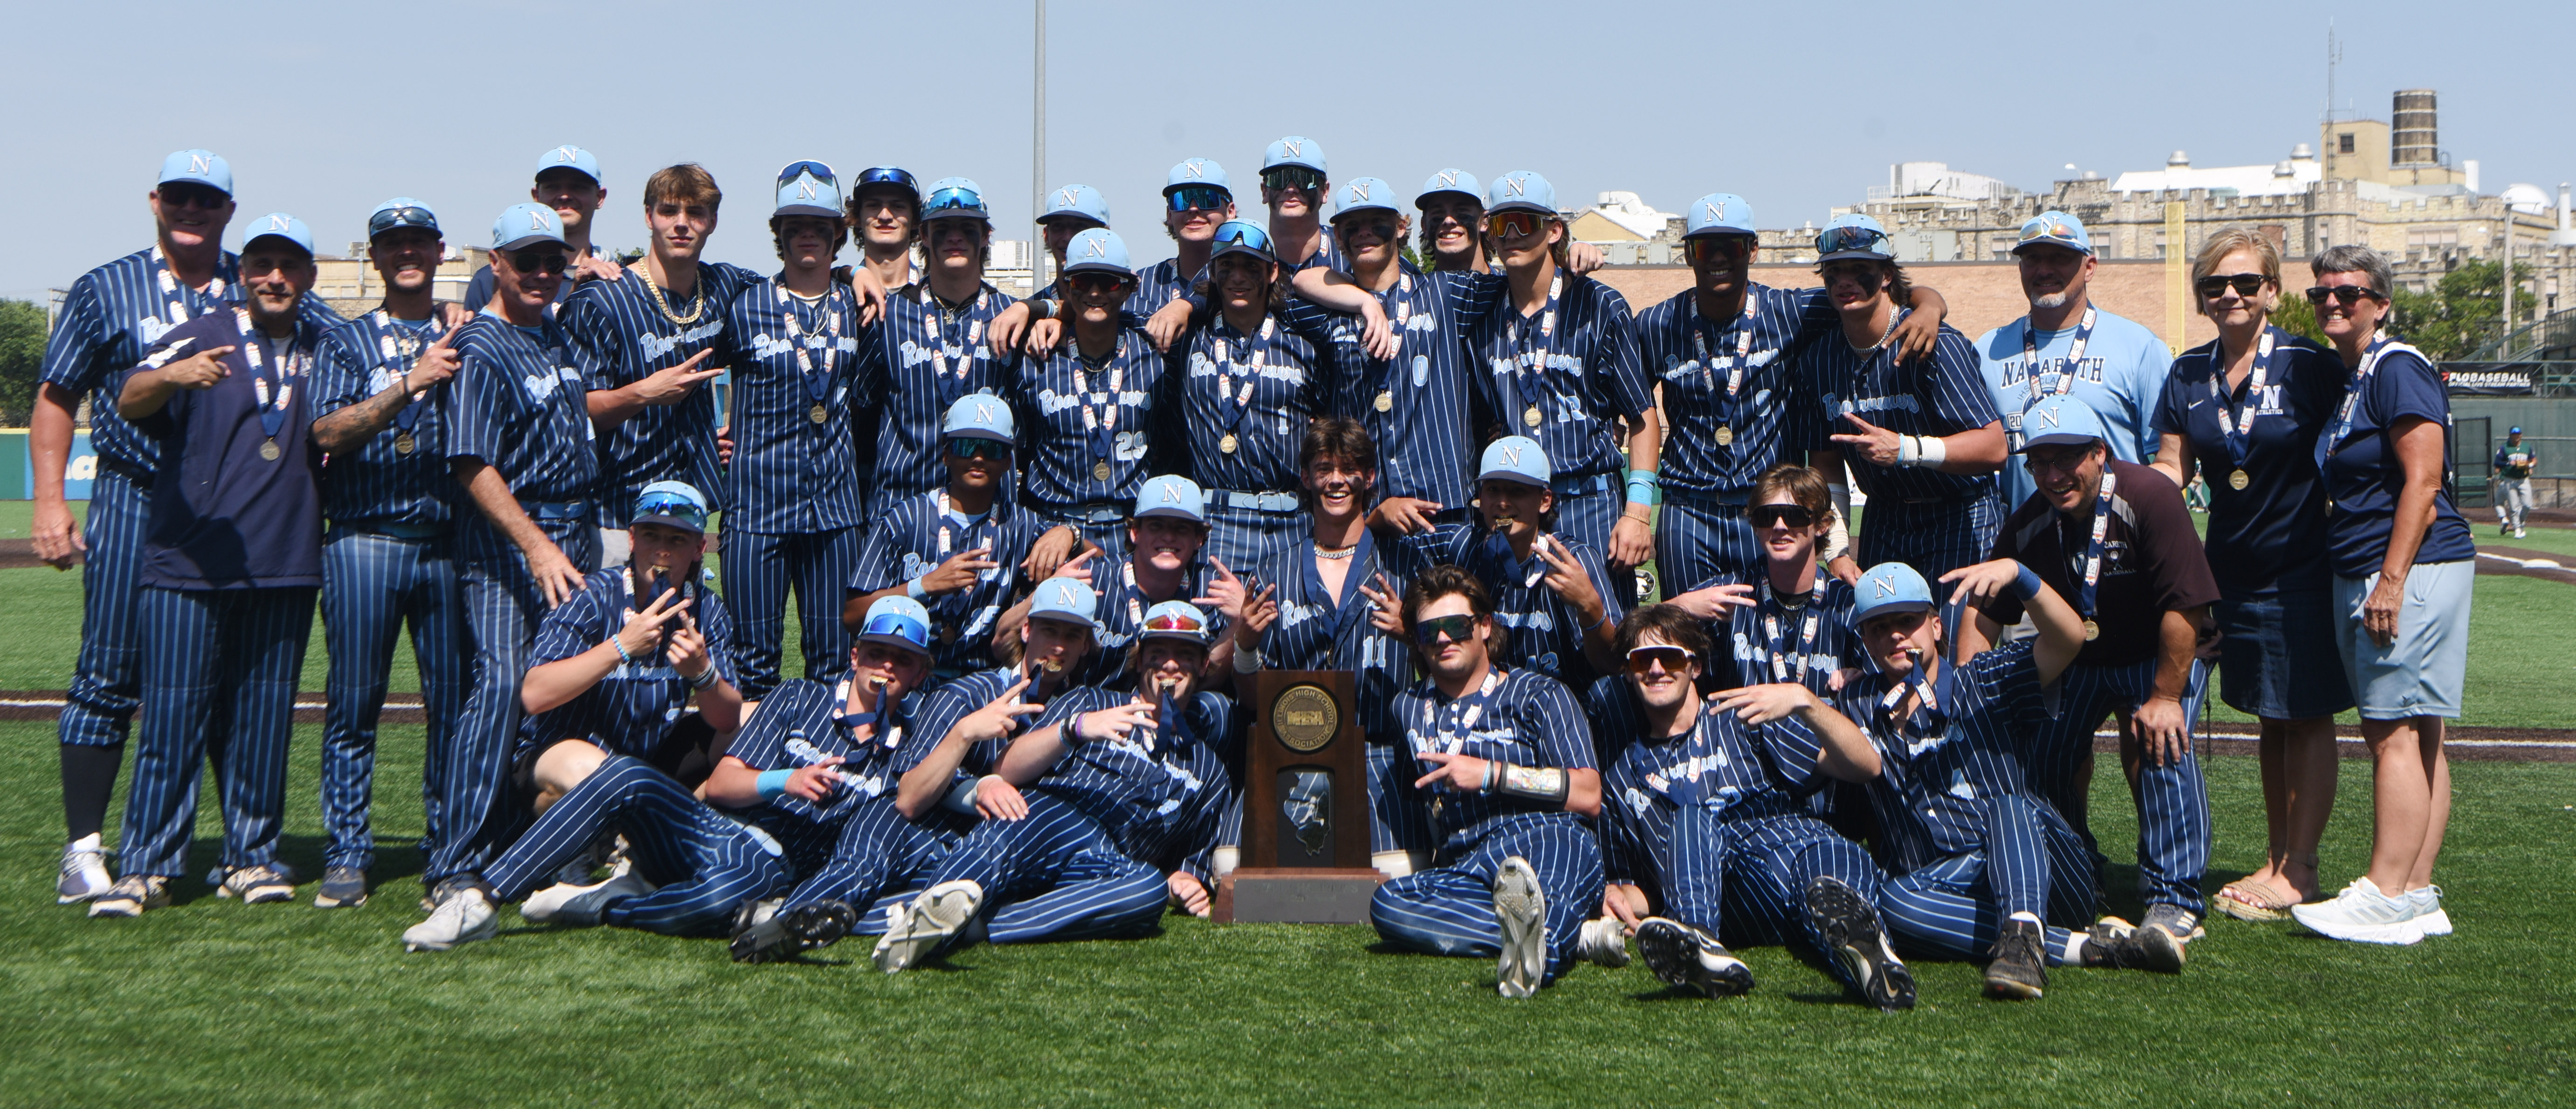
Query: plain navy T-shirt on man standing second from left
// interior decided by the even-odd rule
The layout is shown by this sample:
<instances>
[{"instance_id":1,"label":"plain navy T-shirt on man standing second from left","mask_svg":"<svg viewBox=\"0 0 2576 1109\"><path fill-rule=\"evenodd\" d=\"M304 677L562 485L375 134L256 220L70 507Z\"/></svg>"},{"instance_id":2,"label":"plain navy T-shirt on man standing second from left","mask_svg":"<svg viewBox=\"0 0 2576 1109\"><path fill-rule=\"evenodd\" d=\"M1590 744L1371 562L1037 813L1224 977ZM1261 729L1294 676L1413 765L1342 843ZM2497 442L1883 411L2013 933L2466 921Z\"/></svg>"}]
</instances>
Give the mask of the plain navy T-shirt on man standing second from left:
<instances>
[{"instance_id":1,"label":"plain navy T-shirt on man standing second from left","mask_svg":"<svg viewBox=\"0 0 2576 1109\"><path fill-rule=\"evenodd\" d=\"M322 451L307 441L314 423L309 366L319 340L322 330L309 320L296 325L294 343L278 343L258 330L242 338L237 312L209 312L170 328L126 371L131 379L198 351L234 348L224 356L229 377L209 389L180 389L160 413L134 420L134 431L162 444L144 531L144 585L322 585ZM291 389L276 436L260 420L252 343L270 379ZM286 358L289 346L294 358ZM260 454L270 438L276 459Z\"/></svg>"}]
</instances>

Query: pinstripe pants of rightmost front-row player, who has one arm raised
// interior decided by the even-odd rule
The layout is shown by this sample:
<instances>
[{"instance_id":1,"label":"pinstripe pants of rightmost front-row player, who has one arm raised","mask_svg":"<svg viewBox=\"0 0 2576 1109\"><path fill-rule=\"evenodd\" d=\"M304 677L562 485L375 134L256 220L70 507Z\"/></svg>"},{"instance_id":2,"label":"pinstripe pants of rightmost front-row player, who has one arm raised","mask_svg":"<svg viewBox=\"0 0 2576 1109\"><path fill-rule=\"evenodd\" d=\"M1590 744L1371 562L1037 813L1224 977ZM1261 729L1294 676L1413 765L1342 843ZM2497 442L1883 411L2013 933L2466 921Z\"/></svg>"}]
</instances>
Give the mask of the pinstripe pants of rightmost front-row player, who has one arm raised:
<instances>
[{"instance_id":1,"label":"pinstripe pants of rightmost front-row player, who has one arm raised","mask_svg":"<svg viewBox=\"0 0 2576 1109\"><path fill-rule=\"evenodd\" d=\"M1955 854L1878 887L1878 916L1911 954L1984 959L2012 913L2084 921L2094 910L2094 861L2084 838L2048 802L1986 797L1986 849ZM2066 928L2048 928L2048 965L2066 954Z\"/></svg>"}]
</instances>

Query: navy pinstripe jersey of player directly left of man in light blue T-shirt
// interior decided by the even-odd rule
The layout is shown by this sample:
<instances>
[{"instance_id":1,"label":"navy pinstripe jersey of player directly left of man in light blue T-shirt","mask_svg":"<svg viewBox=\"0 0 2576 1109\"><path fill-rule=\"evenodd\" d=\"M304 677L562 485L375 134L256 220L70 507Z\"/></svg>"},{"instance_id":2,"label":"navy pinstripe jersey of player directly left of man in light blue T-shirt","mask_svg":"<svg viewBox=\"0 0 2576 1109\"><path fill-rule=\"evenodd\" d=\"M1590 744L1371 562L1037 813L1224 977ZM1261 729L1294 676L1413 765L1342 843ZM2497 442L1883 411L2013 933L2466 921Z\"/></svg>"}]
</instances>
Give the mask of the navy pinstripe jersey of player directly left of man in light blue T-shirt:
<instances>
[{"instance_id":1,"label":"navy pinstripe jersey of player directly left of man in light blue T-shirt","mask_svg":"<svg viewBox=\"0 0 2576 1109\"><path fill-rule=\"evenodd\" d=\"M1914 309L1899 309L1899 320ZM1852 343L1808 343L1798 356L1798 369L1808 379L1808 397L1816 400L1814 451L1842 451L1829 436L1855 433L1844 415L1860 415L1899 436L1955 436L2002 420L1994 410L1994 389L1978 369L1976 346L1947 322L1932 356L1906 364L1896 361L1896 343L1870 353L1852 351ZM1976 500L1994 493L1994 475L1945 475L1940 469L1899 469L1860 462L1860 454L1842 451L1852 464L1860 493L1899 500Z\"/></svg>"}]
</instances>

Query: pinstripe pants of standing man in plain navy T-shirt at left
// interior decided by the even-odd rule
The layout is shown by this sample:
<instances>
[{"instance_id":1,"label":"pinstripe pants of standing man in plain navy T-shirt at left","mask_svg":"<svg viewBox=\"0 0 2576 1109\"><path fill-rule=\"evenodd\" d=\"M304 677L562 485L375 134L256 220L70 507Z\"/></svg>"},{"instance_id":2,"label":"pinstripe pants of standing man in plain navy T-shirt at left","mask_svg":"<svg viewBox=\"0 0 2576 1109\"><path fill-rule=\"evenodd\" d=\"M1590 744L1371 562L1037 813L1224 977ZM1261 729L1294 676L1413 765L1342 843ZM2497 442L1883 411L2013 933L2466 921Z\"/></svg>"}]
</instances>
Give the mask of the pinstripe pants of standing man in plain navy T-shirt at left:
<instances>
[{"instance_id":1,"label":"pinstripe pants of standing man in plain navy T-shirt at left","mask_svg":"<svg viewBox=\"0 0 2576 1109\"><path fill-rule=\"evenodd\" d=\"M224 805L224 869L278 859L286 740L314 627L314 588L144 588L144 727L126 792L121 872L178 877L211 758Z\"/></svg>"}]
</instances>

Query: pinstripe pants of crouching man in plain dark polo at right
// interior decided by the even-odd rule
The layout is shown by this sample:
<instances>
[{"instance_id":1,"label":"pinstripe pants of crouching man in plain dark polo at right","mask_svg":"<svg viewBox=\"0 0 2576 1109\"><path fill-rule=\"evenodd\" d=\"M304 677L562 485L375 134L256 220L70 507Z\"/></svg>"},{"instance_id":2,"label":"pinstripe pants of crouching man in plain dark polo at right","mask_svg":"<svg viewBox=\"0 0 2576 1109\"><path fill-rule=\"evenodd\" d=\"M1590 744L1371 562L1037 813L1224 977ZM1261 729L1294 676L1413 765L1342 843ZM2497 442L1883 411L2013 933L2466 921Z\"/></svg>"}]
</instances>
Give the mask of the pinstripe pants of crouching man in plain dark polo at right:
<instances>
[{"instance_id":1,"label":"pinstripe pants of crouching man in plain dark polo at right","mask_svg":"<svg viewBox=\"0 0 2576 1109\"><path fill-rule=\"evenodd\" d=\"M2208 691L2210 668L2192 660L2192 676L2182 686L2182 720L2192 727L2200 722ZM2130 665L2069 665L2058 678L2058 714L2040 725L2025 756L2030 789L2048 797L2058 812L2069 812L2097 867L2102 856L2087 820L2092 735L2105 717L2136 712L2154 694L2154 658ZM2208 900L2200 895L2200 874L2210 867L2210 792L2200 779L2200 756L2184 751L2169 766L2141 758L2130 800L2138 805L2138 900L2202 913Z\"/></svg>"}]
</instances>

